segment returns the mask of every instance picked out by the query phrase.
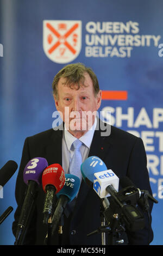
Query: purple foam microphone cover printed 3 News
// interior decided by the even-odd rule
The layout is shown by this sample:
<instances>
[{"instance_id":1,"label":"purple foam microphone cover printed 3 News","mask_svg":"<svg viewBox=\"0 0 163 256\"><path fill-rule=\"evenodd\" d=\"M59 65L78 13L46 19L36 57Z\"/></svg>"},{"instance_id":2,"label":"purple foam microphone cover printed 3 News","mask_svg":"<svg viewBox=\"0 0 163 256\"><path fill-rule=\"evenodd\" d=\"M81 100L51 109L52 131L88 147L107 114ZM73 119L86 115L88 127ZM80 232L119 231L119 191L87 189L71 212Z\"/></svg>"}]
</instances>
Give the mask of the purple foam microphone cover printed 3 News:
<instances>
[{"instance_id":1,"label":"purple foam microphone cover printed 3 News","mask_svg":"<svg viewBox=\"0 0 163 256\"><path fill-rule=\"evenodd\" d=\"M30 160L24 168L23 180L28 185L29 180L34 180L38 185L41 184L43 170L48 166L48 162L43 157L35 157Z\"/></svg>"}]
</instances>

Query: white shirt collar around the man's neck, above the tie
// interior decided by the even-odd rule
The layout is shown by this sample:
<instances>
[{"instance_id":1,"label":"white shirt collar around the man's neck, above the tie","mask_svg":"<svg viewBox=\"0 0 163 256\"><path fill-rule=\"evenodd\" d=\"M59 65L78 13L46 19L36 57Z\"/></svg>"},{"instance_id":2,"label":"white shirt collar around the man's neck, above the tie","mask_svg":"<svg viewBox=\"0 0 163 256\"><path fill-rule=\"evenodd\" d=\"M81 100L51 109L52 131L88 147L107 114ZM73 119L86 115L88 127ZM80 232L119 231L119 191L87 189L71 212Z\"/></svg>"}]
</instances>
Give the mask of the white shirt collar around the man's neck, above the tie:
<instances>
[{"instance_id":1,"label":"white shirt collar around the man's neck, above the tie","mask_svg":"<svg viewBox=\"0 0 163 256\"><path fill-rule=\"evenodd\" d=\"M97 118L95 119L95 123L92 125L91 129L87 131L82 137L79 138L79 141L83 142L87 148L90 148L92 138L95 132L95 128L97 125ZM72 143L77 139L74 137L69 131L64 129L65 141L68 150L70 150Z\"/></svg>"}]
</instances>

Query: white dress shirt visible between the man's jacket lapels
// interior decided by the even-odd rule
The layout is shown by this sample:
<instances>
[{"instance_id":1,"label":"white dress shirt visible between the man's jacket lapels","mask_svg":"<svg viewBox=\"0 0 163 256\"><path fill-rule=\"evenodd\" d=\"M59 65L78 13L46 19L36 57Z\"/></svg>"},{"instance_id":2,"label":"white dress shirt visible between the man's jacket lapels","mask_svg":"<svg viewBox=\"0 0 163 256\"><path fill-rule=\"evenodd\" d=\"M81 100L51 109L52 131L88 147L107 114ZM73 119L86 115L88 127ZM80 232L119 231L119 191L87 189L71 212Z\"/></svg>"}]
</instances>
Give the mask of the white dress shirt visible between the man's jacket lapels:
<instances>
[{"instance_id":1,"label":"white dress shirt visible between the man's jacket lapels","mask_svg":"<svg viewBox=\"0 0 163 256\"><path fill-rule=\"evenodd\" d=\"M87 131L82 137L79 138L81 142L83 142L82 146L80 147L80 152L82 154L82 162L87 159L92 143L92 138L96 129L97 119L95 119L95 123L91 127L89 131ZM77 138L74 137L70 132L64 129L63 136L62 136L62 168L64 169L65 173L68 173L70 161L73 157L73 151L71 150L72 143Z\"/></svg>"}]
</instances>

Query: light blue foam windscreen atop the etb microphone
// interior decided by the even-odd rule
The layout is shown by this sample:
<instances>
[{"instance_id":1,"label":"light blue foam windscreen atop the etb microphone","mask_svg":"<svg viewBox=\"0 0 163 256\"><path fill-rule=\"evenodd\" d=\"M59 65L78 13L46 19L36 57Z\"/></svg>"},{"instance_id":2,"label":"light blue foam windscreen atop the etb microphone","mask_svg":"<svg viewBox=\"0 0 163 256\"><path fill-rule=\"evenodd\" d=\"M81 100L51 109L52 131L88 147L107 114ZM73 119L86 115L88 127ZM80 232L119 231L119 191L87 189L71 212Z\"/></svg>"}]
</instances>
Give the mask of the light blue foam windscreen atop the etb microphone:
<instances>
[{"instance_id":1,"label":"light blue foam windscreen atop the etb microphone","mask_svg":"<svg viewBox=\"0 0 163 256\"><path fill-rule=\"evenodd\" d=\"M107 170L107 167L99 157L90 156L81 164L80 169L86 184L93 186L94 173Z\"/></svg>"}]
</instances>

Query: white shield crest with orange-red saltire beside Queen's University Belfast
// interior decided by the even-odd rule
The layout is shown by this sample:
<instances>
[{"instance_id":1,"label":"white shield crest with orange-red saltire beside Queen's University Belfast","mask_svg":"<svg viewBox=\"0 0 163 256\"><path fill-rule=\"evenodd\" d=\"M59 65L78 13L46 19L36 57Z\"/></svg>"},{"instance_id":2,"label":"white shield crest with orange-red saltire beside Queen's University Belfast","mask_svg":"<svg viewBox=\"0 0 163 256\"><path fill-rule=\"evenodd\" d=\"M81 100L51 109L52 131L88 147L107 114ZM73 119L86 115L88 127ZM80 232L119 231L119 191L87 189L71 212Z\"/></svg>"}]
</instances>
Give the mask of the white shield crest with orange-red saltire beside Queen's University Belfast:
<instances>
[{"instance_id":1,"label":"white shield crest with orange-red saltire beside Queen's University Belfast","mask_svg":"<svg viewBox=\"0 0 163 256\"><path fill-rule=\"evenodd\" d=\"M43 21L43 50L53 62L72 62L81 48L82 21Z\"/></svg>"}]
</instances>

